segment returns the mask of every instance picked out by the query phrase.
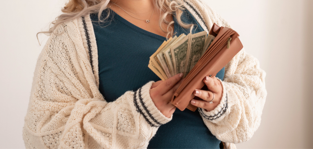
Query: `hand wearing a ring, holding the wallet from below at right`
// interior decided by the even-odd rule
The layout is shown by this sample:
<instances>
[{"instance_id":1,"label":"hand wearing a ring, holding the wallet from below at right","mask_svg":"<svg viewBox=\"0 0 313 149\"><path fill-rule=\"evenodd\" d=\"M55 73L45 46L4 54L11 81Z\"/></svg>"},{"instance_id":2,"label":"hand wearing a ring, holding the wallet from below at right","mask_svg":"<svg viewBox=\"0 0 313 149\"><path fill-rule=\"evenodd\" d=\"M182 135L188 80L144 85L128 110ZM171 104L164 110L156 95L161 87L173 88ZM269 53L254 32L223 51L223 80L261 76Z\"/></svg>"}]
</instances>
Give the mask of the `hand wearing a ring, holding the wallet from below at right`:
<instances>
[{"instance_id":1,"label":"hand wearing a ring, holding the wallet from below at right","mask_svg":"<svg viewBox=\"0 0 313 149\"><path fill-rule=\"evenodd\" d=\"M209 91L196 89L193 91L193 94L203 100L192 99L190 103L194 106L203 108L206 111L211 111L218 106L222 99L222 84L215 76L213 78L206 76L202 81L207 85ZM214 100L212 101L213 94ZM212 101L213 103L209 103L209 101Z\"/></svg>"}]
</instances>

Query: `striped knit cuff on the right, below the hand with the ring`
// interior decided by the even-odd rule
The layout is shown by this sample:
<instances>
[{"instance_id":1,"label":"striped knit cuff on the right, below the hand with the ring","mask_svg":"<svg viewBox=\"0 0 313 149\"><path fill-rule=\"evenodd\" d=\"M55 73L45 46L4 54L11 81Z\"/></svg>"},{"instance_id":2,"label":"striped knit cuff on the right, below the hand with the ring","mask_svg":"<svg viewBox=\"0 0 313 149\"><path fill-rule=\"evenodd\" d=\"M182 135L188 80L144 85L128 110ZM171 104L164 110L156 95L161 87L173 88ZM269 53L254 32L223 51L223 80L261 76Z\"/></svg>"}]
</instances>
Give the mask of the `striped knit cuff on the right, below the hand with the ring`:
<instances>
[{"instance_id":1,"label":"striped knit cuff on the right, below the hand with the ring","mask_svg":"<svg viewBox=\"0 0 313 149\"><path fill-rule=\"evenodd\" d=\"M205 119L207 119L213 123L216 123L216 122L219 122L220 120L222 120L225 117L224 113L226 112L226 110L228 108L227 92L226 92L225 84L219 78L217 78L217 79L221 82L222 88L223 88L222 99L219 102L218 106L215 107L215 109L213 109L212 111L206 111L203 108L198 108L198 111L201 113L202 117L204 117Z\"/></svg>"}]
</instances>

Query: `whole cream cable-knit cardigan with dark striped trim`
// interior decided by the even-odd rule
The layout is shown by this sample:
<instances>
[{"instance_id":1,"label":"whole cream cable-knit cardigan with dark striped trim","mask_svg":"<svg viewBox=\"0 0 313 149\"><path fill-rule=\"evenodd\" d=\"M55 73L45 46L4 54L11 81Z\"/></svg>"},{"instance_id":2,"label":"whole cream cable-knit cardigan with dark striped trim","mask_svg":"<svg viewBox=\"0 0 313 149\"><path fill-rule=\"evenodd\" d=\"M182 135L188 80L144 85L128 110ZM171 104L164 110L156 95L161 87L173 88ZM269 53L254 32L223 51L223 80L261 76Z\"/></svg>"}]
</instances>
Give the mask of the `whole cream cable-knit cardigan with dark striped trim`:
<instances>
[{"instance_id":1,"label":"whole cream cable-knit cardigan with dark striped trim","mask_svg":"<svg viewBox=\"0 0 313 149\"><path fill-rule=\"evenodd\" d=\"M205 31L230 27L198 0L185 7ZM148 63L148 62L147 62ZM242 49L226 66L223 97L214 110L198 108L205 125L227 148L249 140L260 125L265 72ZM59 25L39 55L23 139L26 148L146 148L171 121L151 100L148 82L114 102L99 92L98 53L89 16ZM175 138L173 138L175 139Z\"/></svg>"}]
</instances>

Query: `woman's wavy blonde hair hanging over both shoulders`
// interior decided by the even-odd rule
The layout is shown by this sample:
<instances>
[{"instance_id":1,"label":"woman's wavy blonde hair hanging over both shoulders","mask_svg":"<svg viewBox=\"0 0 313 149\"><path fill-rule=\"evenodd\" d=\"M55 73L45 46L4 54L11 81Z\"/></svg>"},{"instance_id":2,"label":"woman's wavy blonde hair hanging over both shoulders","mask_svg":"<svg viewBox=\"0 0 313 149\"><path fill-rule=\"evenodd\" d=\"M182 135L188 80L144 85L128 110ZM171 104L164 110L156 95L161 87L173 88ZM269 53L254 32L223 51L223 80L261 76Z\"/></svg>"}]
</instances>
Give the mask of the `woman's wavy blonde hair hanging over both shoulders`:
<instances>
[{"instance_id":1,"label":"woman's wavy blonde hair hanging over both shoulders","mask_svg":"<svg viewBox=\"0 0 313 149\"><path fill-rule=\"evenodd\" d=\"M182 16L182 10L184 10L183 7L183 0L153 0L155 1L155 7L160 10L160 20L159 20L159 26L162 29L162 31L166 34L166 37L168 35L173 36L173 28L171 25L174 23L174 21L167 21L166 17L168 14L176 13L176 20L178 24L184 28L190 28L190 31L193 28L193 24L186 24L182 22L181 16ZM110 0L69 0L68 3L66 3L65 7L62 8L63 14L59 15L55 21L51 23L52 27L49 28L48 31L38 32L37 33L37 39L39 33L44 33L46 35L53 34L54 29L67 21L70 21L72 19L76 19L78 17L86 16L89 13L98 13L99 22L104 22L109 17L109 11L107 16L101 16L102 12L104 10L109 9L108 4ZM161 14L163 12L163 14ZM102 19L101 19L102 17ZM162 24L165 23L167 25L167 30L164 30L162 28Z\"/></svg>"}]
</instances>

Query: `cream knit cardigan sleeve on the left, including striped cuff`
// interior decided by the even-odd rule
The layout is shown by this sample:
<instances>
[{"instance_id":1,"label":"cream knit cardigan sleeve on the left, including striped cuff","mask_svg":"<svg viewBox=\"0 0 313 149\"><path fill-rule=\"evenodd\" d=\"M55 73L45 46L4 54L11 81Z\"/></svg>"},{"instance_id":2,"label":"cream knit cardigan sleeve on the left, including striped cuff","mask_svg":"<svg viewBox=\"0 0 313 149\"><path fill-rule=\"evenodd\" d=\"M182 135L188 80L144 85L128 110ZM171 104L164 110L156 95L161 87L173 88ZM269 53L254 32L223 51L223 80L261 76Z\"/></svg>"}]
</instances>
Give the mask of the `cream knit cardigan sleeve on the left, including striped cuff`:
<instances>
[{"instance_id":1,"label":"cream knit cardigan sleeve on the left, including striped cuff","mask_svg":"<svg viewBox=\"0 0 313 149\"><path fill-rule=\"evenodd\" d=\"M74 26L60 25L39 55L23 127L26 148L146 148L172 119L152 102L153 82L106 102Z\"/></svg>"}]
</instances>

